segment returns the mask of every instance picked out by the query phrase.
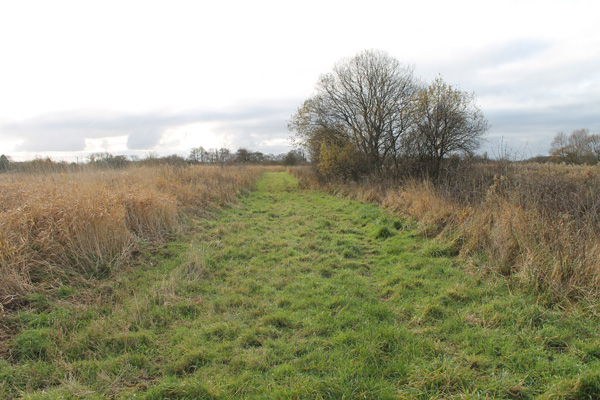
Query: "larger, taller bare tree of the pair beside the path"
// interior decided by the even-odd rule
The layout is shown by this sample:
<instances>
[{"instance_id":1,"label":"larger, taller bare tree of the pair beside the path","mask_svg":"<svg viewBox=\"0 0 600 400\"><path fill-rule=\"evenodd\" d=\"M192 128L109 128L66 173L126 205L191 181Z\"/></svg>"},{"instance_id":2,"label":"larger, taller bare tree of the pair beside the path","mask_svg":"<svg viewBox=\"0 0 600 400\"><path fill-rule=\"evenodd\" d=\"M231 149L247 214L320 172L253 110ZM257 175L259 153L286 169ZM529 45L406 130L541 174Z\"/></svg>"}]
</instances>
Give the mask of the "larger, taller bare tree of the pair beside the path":
<instances>
[{"instance_id":1,"label":"larger, taller bare tree of the pair beside the path","mask_svg":"<svg viewBox=\"0 0 600 400\"><path fill-rule=\"evenodd\" d=\"M382 173L397 167L394 160L412 126L417 90L412 67L382 51L363 51L321 76L316 94L292 117L289 128L311 158L323 143L351 145L371 172Z\"/></svg>"}]
</instances>

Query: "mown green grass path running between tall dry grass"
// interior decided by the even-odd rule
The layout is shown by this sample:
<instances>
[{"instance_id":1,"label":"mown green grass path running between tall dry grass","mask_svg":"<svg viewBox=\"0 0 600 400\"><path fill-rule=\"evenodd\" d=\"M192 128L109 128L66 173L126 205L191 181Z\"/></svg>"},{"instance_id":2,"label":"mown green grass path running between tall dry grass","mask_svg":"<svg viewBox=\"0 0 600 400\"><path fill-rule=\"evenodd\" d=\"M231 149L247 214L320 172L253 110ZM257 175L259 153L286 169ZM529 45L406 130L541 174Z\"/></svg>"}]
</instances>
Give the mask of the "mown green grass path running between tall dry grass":
<instances>
[{"instance_id":1,"label":"mown green grass path running between tall dry grass","mask_svg":"<svg viewBox=\"0 0 600 400\"><path fill-rule=\"evenodd\" d=\"M600 398L591 308L470 271L410 221L267 173L194 224L5 317L0 398Z\"/></svg>"}]
</instances>

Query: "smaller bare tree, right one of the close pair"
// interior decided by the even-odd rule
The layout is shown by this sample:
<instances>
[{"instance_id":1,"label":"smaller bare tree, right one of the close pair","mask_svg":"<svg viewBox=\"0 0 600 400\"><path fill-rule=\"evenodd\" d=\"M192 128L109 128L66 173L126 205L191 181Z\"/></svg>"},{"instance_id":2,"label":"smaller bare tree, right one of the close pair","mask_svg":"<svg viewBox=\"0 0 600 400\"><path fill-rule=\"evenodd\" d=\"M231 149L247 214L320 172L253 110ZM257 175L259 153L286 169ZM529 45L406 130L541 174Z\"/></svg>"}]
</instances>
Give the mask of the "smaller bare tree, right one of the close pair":
<instances>
[{"instance_id":1,"label":"smaller bare tree, right one of the close pair","mask_svg":"<svg viewBox=\"0 0 600 400\"><path fill-rule=\"evenodd\" d=\"M416 131L410 138L410 146L414 155L427 161L433 176L439 174L445 156L457 152L471 154L481 145L488 130L475 95L453 88L441 77L419 92L415 115Z\"/></svg>"}]
</instances>

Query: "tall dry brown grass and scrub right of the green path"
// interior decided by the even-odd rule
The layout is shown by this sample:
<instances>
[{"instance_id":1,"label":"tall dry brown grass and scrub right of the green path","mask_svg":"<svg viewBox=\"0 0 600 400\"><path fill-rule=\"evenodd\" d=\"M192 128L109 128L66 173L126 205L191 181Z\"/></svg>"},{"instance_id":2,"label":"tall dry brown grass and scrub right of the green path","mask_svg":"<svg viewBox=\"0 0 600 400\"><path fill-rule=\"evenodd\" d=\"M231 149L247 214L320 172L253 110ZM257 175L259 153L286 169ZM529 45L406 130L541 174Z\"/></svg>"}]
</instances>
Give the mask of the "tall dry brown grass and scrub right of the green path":
<instances>
[{"instance_id":1,"label":"tall dry brown grass and scrub right of the green path","mask_svg":"<svg viewBox=\"0 0 600 400\"><path fill-rule=\"evenodd\" d=\"M554 164L463 164L443 179L402 183L320 182L307 187L375 202L414 218L463 257L536 291L600 297L600 168Z\"/></svg>"}]
</instances>

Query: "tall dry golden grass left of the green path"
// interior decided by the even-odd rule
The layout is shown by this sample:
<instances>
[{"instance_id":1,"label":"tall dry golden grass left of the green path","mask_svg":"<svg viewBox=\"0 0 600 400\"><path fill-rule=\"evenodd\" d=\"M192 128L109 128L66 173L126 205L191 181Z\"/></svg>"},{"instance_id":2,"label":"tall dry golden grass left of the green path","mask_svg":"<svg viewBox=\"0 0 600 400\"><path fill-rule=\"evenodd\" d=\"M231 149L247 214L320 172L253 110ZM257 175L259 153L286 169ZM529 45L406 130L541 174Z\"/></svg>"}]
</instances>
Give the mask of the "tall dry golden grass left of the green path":
<instances>
[{"instance_id":1,"label":"tall dry golden grass left of the green path","mask_svg":"<svg viewBox=\"0 0 600 400\"><path fill-rule=\"evenodd\" d=\"M261 167L131 167L0 175L0 302L127 261L251 189Z\"/></svg>"}]
</instances>

